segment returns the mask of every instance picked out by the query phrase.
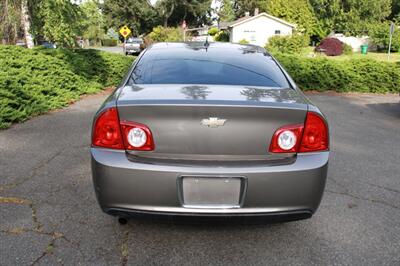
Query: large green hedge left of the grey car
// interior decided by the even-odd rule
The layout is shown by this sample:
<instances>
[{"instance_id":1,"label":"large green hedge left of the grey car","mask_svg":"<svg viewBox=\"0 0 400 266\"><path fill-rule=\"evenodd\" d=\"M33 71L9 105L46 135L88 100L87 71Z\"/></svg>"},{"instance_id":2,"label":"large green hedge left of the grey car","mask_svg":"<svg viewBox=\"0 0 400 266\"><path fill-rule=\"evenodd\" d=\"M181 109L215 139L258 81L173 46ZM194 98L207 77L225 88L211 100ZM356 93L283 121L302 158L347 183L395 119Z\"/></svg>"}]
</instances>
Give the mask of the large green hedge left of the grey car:
<instances>
[{"instance_id":1,"label":"large green hedge left of the grey car","mask_svg":"<svg viewBox=\"0 0 400 266\"><path fill-rule=\"evenodd\" d=\"M117 85L132 57L0 45L0 128Z\"/></svg>"}]
</instances>

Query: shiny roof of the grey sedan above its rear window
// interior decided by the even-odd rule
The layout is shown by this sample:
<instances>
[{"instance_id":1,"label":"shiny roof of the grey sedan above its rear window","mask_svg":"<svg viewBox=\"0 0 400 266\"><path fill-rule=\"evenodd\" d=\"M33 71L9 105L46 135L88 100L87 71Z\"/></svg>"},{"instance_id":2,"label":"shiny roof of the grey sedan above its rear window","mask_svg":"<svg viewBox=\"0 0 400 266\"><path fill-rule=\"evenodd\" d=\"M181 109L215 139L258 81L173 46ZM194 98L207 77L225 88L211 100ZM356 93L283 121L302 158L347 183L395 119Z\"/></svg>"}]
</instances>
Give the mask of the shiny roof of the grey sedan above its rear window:
<instances>
[{"instance_id":1,"label":"shiny roof of the grey sedan above its rear window","mask_svg":"<svg viewBox=\"0 0 400 266\"><path fill-rule=\"evenodd\" d=\"M251 44L235 44L224 42L161 42L148 47L152 56L163 58L194 58L207 54L213 58L240 57L243 54L259 54L270 56L262 47Z\"/></svg>"}]
</instances>

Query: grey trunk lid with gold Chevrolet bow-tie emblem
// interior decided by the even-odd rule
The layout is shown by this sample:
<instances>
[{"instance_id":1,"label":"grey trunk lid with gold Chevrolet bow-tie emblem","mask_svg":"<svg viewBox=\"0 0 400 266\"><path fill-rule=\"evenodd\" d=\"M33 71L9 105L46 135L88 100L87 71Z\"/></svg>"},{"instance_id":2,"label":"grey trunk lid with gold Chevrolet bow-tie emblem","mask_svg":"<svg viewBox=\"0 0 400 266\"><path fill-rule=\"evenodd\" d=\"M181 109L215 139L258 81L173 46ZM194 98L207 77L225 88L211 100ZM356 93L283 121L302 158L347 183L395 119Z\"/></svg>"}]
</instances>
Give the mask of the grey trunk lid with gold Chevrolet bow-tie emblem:
<instances>
[{"instance_id":1,"label":"grey trunk lid with gold Chevrolet bow-tie emblem","mask_svg":"<svg viewBox=\"0 0 400 266\"><path fill-rule=\"evenodd\" d=\"M121 121L152 131L155 150L134 154L175 159L269 158L273 133L307 113L296 90L223 85L126 86L117 106Z\"/></svg>"}]
</instances>

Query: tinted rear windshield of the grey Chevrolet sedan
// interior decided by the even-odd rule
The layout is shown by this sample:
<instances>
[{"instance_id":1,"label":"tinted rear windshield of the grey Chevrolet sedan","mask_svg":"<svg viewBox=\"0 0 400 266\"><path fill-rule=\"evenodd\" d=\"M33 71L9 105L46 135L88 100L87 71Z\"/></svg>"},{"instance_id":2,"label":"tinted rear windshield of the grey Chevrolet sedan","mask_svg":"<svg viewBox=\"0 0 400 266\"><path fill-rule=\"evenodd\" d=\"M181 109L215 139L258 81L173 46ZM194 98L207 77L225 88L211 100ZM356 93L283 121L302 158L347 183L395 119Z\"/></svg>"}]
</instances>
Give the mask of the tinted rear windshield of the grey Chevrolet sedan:
<instances>
[{"instance_id":1,"label":"tinted rear windshield of the grey Chevrolet sedan","mask_svg":"<svg viewBox=\"0 0 400 266\"><path fill-rule=\"evenodd\" d=\"M145 55L136 65L130 82L289 87L281 69L270 57L258 55L243 59L221 60L221 57L213 59L202 56L157 58Z\"/></svg>"}]
</instances>

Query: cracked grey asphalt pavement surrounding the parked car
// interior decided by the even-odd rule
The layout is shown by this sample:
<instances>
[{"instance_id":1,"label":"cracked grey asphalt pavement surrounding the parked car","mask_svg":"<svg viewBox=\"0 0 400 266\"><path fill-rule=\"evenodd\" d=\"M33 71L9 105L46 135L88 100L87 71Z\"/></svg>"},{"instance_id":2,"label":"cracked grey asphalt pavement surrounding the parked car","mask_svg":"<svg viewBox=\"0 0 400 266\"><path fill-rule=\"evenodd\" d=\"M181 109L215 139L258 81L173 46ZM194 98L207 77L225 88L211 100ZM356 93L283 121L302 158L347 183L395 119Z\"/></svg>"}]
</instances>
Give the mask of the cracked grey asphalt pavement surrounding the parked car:
<instances>
[{"instance_id":1,"label":"cracked grey asphalt pavement surrounding the parked car","mask_svg":"<svg viewBox=\"0 0 400 266\"><path fill-rule=\"evenodd\" d=\"M313 94L332 132L312 219L274 225L121 226L95 200L92 115L105 95L0 131L1 265L400 265L397 96Z\"/></svg>"}]
</instances>

